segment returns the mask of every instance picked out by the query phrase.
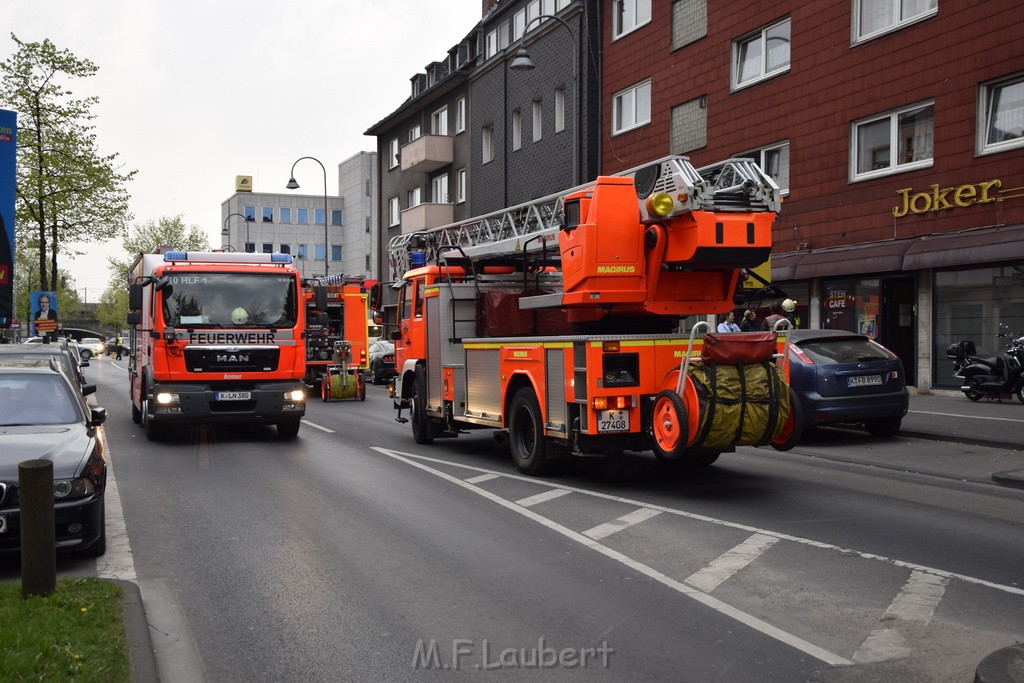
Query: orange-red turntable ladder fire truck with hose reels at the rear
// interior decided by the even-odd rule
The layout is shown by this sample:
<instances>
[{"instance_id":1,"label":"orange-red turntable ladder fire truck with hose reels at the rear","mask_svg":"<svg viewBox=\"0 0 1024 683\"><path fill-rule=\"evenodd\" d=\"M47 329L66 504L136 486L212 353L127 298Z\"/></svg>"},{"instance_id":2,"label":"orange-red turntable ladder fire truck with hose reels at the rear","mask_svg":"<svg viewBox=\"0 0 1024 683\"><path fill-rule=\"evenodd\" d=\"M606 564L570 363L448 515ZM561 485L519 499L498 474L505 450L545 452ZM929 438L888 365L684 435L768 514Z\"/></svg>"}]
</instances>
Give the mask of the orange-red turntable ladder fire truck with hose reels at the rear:
<instances>
[{"instance_id":1,"label":"orange-red turntable ladder fire truck with hose reels at the rear","mask_svg":"<svg viewBox=\"0 0 1024 683\"><path fill-rule=\"evenodd\" d=\"M670 157L393 239L399 422L418 443L507 430L528 474L563 455L700 466L736 445L792 447L784 337L680 329L733 308L779 202L750 160L698 171Z\"/></svg>"}]
</instances>

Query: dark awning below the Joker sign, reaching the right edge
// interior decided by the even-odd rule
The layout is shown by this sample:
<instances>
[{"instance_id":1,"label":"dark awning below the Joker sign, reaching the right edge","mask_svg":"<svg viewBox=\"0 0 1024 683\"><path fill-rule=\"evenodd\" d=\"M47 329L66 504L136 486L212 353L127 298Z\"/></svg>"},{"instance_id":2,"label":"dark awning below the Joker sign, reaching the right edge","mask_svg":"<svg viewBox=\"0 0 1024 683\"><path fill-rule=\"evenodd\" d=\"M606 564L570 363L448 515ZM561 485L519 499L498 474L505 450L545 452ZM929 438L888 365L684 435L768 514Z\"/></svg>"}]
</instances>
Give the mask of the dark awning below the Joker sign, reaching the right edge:
<instances>
[{"instance_id":1,"label":"dark awning below the Joker sign, reaching the right edge","mask_svg":"<svg viewBox=\"0 0 1024 683\"><path fill-rule=\"evenodd\" d=\"M906 250L903 269L1015 260L1024 260L1024 225L920 238Z\"/></svg>"}]
</instances>

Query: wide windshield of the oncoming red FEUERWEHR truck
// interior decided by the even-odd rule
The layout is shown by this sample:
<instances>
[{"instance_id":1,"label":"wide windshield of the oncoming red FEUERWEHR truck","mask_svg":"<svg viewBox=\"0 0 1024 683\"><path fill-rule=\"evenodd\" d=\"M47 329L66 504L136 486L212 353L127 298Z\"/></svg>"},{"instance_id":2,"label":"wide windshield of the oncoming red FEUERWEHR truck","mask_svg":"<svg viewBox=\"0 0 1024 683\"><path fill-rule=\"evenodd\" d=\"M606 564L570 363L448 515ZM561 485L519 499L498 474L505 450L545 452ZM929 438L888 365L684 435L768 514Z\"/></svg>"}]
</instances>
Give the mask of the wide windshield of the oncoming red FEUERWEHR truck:
<instances>
[{"instance_id":1,"label":"wide windshield of the oncoming red FEUERWEHR truck","mask_svg":"<svg viewBox=\"0 0 1024 683\"><path fill-rule=\"evenodd\" d=\"M182 328L292 328L298 310L294 276L278 273L169 273L164 322Z\"/></svg>"}]
</instances>

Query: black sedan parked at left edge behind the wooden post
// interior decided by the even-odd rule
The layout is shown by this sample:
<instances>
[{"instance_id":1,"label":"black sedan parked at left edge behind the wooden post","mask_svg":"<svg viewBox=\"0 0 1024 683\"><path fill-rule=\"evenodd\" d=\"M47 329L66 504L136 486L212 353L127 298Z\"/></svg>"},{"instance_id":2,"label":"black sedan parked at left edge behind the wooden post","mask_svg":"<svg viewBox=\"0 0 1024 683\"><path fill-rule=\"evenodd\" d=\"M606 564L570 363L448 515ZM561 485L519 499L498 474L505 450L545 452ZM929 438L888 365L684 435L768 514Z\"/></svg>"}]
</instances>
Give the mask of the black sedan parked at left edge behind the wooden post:
<instances>
[{"instance_id":1,"label":"black sedan parked at left edge behind the wooden post","mask_svg":"<svg viewBox=\"0 0 1024 683\"><path fill-rule=\"evenodd\" d=\"M44 459L53 462L57 551L106 552L105 419L55 360L0 356L0 552L22 545L18 463Z\"/></svg>"}]
</instances>

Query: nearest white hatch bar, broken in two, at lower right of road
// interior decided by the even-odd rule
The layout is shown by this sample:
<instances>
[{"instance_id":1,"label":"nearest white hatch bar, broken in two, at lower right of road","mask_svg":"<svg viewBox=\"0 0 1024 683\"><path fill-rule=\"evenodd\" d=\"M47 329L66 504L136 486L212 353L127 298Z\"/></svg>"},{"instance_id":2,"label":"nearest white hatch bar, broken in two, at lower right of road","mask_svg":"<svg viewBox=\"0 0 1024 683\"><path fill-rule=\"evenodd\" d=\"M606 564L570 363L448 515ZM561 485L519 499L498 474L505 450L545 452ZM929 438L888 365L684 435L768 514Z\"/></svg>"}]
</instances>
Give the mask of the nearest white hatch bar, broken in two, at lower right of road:
<instances>
[{"instance_id":1,"label":"nearest white hatch bar, broken in two, at lower right of road","mask_svg":"<svg viewBox=\"0 0 1024 683\"><path fill-rule=\"evenodd\" d=\"M936 577L926 571L910 572L910 578L903 585L903 590L893 599L882 620L896 618L904 622L919 622L927 626L935 614L935 608L939 606L947 583L948 579L944 577ZM878 629L871 632L871 635L853 655L853 660L865 664L887 661L900 659L909 654L910 648L899 631Z\"/></svg>"}]
</instances>

